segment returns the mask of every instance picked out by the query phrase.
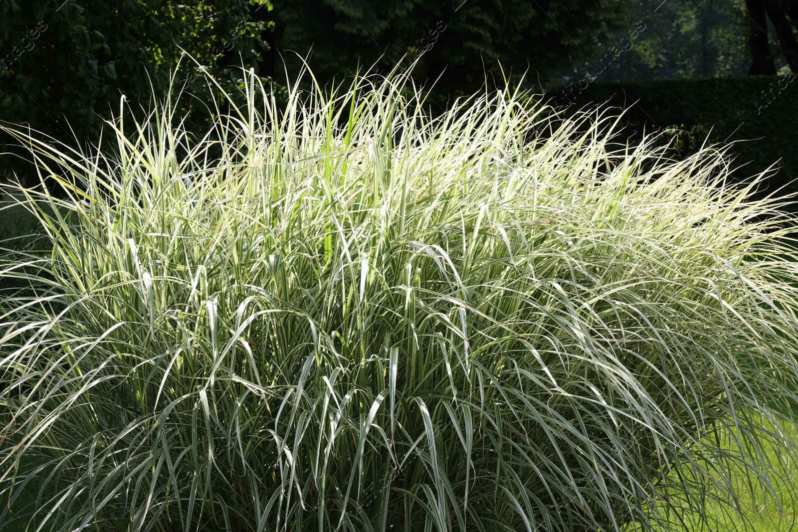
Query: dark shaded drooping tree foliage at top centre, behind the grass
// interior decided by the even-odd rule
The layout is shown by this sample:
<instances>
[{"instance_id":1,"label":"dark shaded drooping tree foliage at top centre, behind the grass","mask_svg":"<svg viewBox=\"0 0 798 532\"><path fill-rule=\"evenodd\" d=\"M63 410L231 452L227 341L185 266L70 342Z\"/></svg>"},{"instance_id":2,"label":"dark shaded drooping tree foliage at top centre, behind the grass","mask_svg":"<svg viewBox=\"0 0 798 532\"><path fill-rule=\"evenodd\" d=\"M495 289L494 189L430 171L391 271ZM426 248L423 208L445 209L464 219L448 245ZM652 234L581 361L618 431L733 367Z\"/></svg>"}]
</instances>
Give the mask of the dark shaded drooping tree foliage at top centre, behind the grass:
<instances>
[{"instance_id":1,"label":"dark shaded drooping tree foliage at top centre, behind the grass","mask_svg":"<svg viewBox=\"0 0 798 532\"><path fill-rule=\"evenodd\" d=\"M626 14L622 0L277 0L275 41L290 76L302 64L293 50L322 80L423 51L417 81L458 94L594 58Z\"/></svg>"}]
</instances>

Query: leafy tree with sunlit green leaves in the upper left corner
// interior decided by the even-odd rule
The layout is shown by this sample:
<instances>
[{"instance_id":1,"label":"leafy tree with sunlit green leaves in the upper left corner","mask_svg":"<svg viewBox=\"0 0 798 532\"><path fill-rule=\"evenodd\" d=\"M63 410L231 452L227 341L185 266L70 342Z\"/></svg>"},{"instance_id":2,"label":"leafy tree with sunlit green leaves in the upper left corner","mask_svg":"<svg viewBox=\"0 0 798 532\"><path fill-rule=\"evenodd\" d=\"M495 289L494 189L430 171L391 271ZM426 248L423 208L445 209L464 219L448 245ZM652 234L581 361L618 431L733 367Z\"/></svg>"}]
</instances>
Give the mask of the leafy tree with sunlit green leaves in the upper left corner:
<instances>
[{"instance_id":1,"label":"leafy tree with sunlit green leaves in the upper left corner","mask_svg":"<svg viewBox=\"0 0 798 532\"><path fill-rule=\"evenodd\" d=\"M229 86L231 57L233 64L255 65L268 49L266 22L252 22L250 16L258 8L271 5L266 0L0 0L0 119L30 124L61 140L97 140L102 118L118 108L122 95L146 107L153 89L160 94L168 88L183 50ZM196 73L196 65L182 61ZM186 81L190 93L208 101L202 77L189 75Z\"/></svg>"}]
</instances>

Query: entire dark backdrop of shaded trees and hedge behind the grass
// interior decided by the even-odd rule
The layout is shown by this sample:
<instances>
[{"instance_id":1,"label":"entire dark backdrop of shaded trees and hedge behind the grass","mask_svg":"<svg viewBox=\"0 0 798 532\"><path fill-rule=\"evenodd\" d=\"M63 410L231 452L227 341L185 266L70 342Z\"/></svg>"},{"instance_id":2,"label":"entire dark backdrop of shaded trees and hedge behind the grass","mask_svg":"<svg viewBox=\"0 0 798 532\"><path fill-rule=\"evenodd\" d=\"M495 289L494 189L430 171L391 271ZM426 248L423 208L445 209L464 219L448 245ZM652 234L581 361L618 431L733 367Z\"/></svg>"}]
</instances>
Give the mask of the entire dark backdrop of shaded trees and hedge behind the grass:
<instances>
[{"instance_id":1,"label":"entire dark backdrop of shaded trees and hedge behind the grass","mask_svg":"<svg viewBox=\"0 0 798 532\"><path fill-rule=\"evenodd\" d=\"M677 156L746 140L738 175L778 161L782 186L798 176L796 24L792 0L0 0L0 120L88 149L123 95L144 113L180 62L174 94L200 135L216 89L184 52L225 90L244 67L278 93L305 61L329 85L418 57L437 106L507 84L560 108L609 102L630 108L633 140L680 129ZM0 144L5 179L38 181Z\"/></svg>"}]
</instances>

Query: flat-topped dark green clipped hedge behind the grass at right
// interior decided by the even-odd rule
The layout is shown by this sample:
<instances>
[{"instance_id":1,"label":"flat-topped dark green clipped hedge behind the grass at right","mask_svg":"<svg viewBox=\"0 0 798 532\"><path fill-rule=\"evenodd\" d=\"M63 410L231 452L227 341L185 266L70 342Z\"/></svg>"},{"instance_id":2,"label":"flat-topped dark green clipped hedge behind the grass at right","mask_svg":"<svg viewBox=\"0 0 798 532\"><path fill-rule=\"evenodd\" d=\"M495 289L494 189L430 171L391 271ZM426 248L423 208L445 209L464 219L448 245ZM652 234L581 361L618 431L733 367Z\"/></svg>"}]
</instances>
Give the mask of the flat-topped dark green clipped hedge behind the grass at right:
<instances>
[{"instance_id":1,"label":"flat-topped dark green clipped hedge behind the grass at right","mask_svg":"<svg viewBox=\"0 0 798 532\"><path fill-rule=\"evenodd\" d=\"M583 82L583 87L587 85ZM571 97L571 94L573 95ZM766 99L767 97L767 99ZM625 108L626 132L676 128L678 154L688 155L709 143L735 142L732 152L739 178L764 171L776 163L768 191L787 185L798 191L798 79L787 76L753 76L711 80L667 80L591 83L580 91L575 85L557 91L552 104L571 109L591 104ZM745 141L743 141L745 140Z\"/></svg>"}]
</instances>

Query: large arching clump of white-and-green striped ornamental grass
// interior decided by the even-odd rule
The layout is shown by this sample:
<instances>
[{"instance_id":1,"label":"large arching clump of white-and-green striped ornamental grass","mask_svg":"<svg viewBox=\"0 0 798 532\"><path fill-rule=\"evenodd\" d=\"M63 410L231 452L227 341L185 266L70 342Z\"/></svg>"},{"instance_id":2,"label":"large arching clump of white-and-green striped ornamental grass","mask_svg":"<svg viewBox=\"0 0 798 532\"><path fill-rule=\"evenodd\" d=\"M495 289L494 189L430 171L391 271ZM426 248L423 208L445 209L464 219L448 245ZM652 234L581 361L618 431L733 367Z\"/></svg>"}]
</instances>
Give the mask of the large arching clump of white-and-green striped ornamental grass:
<instances>
[{"instance_id":1,"label":"large arching clump of white-and-green striped ornamental grass","mask_svg":"<svg viewBox=\"0 0 798 532\"><path fill-rule=\"evenodd\" d=\"M169 103L88 156L15 132L65 192L26 191L52 250L2 263L3 522L650 530L767 499L798 256L760 178L527 95L243 96L202 139Z\"/></svg>"}]
</instances>

